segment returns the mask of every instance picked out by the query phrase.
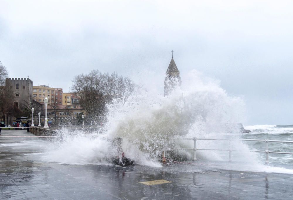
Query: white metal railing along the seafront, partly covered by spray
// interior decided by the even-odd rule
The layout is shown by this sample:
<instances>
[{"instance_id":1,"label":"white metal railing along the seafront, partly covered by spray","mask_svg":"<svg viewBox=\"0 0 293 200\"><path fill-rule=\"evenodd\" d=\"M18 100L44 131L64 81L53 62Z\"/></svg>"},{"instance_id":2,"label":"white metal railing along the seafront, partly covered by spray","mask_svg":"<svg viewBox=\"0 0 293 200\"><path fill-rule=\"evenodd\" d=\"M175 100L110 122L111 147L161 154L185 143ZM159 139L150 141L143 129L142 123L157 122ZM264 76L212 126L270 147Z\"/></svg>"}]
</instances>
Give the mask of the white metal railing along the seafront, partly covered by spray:
<instances>
[{"instance_id":1,"label":"white metal railing along the seafront, partly covered by spray","mask_svg":"<svg viewBox=\"0 0 293 200\"><path fill-rule=\"evenodd\" d=\"M293 152L277 152L277 151L269 151L269 142L280 142L280 143L293 143L293 141L282 141L282 140L253 140L253 139L221 139L221 138L176 138L177 140L193 140L193 148L179 148L179 149L168 149L168 150L193 150L193 161L196 161L196 151L197 150L214 150L214 151L229 151L229 162L232 162L232 151L238 150L231 150L230 145L228 149L197 149L196 148L196 141L197 140L229 140L229 143L232 140L241 140L241 141L257 141L257 142L265 142L265 150L260 151L252 151L252 152L264 152L265 153L265 164L269 163L269 153L279 153L279 154L293 154ZM165 151L163 151L163 157L165 157Z\"/></svg>"}]
</instances>

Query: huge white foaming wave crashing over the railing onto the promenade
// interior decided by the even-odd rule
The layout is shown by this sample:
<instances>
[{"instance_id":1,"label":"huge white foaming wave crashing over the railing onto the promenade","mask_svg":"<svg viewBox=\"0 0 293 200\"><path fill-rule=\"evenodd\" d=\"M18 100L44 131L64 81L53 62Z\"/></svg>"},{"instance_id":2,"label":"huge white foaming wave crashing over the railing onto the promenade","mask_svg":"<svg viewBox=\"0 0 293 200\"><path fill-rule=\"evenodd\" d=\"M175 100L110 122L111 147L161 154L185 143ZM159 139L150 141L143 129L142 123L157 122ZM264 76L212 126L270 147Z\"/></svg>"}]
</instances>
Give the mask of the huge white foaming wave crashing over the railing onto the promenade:
<instances>
[{"instance_id":1,"label":"huge white foaming wave crashing over the railing onto the promenade","mask_svg":"<svg viewBox=\"0 0 293 200\"><path fill-rule=\"evenodd\" d=\"M270 157L271 163L278 165L264 165L264 155L252 151L264 150L264 143L246 143L237 140L260 137L267 139L265 137L268 134L252 127L246 127L252 129L252 133L239 134L239 128L235 125L238 123L239 115L245 116L245 104L241 98L227 94L219 86L218 81L203 77L196 71L191 71L186 77L182 86L169 96L164 97L154 90L137 87L131 95L114 99L108 106L107 123L98 131L71 132L70 128L63 128L58 132L61 139L56 138L47 145L42 159L71 165L110 165L107 158L113 152L111 140L121 137L125 156L134 159L139 165L188 172L225 169L291 173L290 170L279 165L281 156L278 155ZM280 134L287 132L279 133L279 138L274 139L281 139ZM177 140L177 138L193 137L234 139L230 142L228 140L197 141L199 149L235 150L232 155L233 162L227 162L229 159L227 151L211 150L197 151L198 161L188 166L183 164L184 166L180 167L177 165L166 167L160 162L164 150L193 148L192 140ZM277 145L270 144L270 150L275 150L274 148L283 144ZM287 151L287 145L283 148ZM193 156L192 151L178 151L178 154L189 159ZM292 157L285 156L281 159L281 164L286 162L292 163Z\"/></svg>"}]
</instances>

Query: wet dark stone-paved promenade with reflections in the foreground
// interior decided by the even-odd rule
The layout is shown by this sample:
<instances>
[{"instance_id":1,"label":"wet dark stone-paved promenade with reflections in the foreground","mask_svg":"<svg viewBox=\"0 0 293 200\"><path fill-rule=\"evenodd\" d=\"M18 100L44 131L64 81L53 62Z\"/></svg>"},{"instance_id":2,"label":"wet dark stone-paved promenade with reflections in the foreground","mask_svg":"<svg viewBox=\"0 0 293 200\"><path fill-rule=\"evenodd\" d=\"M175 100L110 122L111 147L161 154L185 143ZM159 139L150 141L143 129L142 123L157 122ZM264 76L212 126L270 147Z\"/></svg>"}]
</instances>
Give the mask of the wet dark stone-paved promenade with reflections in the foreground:
<instances>
[{"instance_id":1,"label":"wet dark stone-paved promenade with reflections in the foreground","mask_svg":"<svg viewBox=\"0 0 293 200\"><path fill-rule=\"evenodd\" d=\"M48 139L0 136L0 199L293 199L292 174L59 165L40 159Z\"/></svg>"}]
</instances>

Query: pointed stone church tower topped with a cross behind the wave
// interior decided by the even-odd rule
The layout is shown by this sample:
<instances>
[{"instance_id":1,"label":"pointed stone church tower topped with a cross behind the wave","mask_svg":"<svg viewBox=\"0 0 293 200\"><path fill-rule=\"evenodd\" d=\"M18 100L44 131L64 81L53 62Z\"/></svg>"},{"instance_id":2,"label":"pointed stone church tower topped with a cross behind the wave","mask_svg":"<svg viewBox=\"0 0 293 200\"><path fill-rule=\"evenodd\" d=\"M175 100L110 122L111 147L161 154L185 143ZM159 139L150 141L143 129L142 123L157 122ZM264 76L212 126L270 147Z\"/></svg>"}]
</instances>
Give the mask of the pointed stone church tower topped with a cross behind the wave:
<instances>
[{"instance_id":1,"label":"pointed stone church tower topped with a cross behind the wave","mask_svg":"<svg viewBox=\"0 0 293 200\"><path fill-rule=\"evenodd\" d=\"M181 86L180 72L173 59L173 50L171 52L172 58L169 67L166 71L166 77L164 81L164 96L169 95L173 89L175 89L178 86Z\"/></svg>"}]
</instances>

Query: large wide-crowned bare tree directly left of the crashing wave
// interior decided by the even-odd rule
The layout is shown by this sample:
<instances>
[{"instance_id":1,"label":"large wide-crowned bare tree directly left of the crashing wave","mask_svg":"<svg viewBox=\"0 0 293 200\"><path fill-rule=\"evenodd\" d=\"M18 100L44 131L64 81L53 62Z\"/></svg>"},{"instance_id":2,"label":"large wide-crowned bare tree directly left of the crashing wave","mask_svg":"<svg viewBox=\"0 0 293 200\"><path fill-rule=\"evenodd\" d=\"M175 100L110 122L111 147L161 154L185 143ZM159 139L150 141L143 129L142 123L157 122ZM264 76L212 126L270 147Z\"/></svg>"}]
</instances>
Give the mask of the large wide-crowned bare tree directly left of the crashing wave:
<instances>
[{"instance_id":1,"label":"large wide-crowned bare tree directly left of the crashing wave","mask_svg":"<svg viewBox=\"0 0 293 200\"><path fill-rule=\"evenodd\" d=\"M88 74L80 74L72 81L73 91L80 97L79 103L87 112L88 117L104 116L107 104L113 98L122 98L132 92L134 84L129 78L118 76L117 73L102 74L92 70Z\"/></svg>"}]
</instances>

